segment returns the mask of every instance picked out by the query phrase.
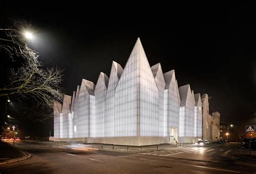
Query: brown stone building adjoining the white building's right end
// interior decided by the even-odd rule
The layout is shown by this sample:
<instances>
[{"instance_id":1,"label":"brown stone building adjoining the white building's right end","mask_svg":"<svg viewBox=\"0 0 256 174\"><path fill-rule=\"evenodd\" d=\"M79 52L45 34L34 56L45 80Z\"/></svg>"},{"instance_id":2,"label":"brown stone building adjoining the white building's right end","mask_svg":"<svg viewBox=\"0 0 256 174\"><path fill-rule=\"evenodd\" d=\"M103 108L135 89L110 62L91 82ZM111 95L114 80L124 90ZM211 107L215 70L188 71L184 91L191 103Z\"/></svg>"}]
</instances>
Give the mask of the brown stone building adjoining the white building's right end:
<instances>
[{"instance_id":1,"label":"brown stone building adjoining the white building's right end","mask_svg":"<svg viewBox=\"0 0 256 174\"><path fill-rule=\"evenodd\" d=\"M220 113L209 113L208 95L201 96L203 107L203 139L214 142L220 139Z\"/></svg>"}]
</instances>

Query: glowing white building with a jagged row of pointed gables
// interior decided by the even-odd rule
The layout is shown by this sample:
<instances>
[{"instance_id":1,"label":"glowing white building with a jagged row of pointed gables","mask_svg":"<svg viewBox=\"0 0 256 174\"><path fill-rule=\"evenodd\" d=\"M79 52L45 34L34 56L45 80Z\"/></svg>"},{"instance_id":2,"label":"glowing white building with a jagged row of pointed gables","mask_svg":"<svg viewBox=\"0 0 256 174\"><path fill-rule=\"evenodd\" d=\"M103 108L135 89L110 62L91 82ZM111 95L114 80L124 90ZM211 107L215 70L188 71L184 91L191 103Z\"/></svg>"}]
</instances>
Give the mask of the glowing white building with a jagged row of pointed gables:
<instances>
[{"instance_id":1,"label":"glowing white building with a jagged row of pointed gables","mask_svg":"<svg viewBox=\"0 0 256 174\"><path fill-rule=\"evenodd\" d=\"M55 103L55 141L192 143L201 126L195 98L189 85L178 88L174 70L163 74L160 64L150 67L138 38L124 69L113 61L110 78L100 72L96 86L82 80L67 110L60 112L64 106ZM63 105L67 101L66 96Z\"/></svg>"}]
</instances>

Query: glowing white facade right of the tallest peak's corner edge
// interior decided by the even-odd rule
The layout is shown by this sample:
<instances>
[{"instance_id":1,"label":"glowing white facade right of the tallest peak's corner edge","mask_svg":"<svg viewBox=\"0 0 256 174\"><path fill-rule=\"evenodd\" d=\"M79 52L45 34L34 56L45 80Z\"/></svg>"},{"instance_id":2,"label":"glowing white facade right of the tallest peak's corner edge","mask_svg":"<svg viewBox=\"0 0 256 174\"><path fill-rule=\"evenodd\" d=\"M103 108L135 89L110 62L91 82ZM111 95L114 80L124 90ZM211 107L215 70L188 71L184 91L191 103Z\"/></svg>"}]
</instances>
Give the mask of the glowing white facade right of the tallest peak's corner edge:
<instances>
[{"instance_id":1,"label":"glowing white facade right of the tallest peak's corner edge","mask_svg":"<svg viewBox=\"0 0 256 174\"><path fill-rule=\"evenodd\" d=\"M143 47L138 43L139 59L139 134L159 136L159 91Z\"/></svg>"}]
</instances>

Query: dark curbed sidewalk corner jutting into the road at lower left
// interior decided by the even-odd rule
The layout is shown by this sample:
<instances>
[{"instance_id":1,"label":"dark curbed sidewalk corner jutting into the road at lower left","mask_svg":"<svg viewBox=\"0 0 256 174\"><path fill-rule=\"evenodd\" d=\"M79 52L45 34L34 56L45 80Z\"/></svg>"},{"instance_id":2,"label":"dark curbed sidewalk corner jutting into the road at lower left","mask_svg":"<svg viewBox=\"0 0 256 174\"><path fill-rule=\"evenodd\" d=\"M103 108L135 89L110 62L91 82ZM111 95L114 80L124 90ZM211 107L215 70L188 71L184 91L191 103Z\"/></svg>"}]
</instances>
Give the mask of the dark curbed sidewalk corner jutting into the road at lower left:
<instances>
[{"instance_id":1,"label":"dark curbed sidewalk corner jutting into the road at lower left","mask_svg":"<svg viewBox=\"0 0 256 174\"><path fill-rule=\"evenodd\" d=\"M0 142L0 164L12 163L30 158L30 154L19 151L7 142Z\"/></svg>"}]
</instances>

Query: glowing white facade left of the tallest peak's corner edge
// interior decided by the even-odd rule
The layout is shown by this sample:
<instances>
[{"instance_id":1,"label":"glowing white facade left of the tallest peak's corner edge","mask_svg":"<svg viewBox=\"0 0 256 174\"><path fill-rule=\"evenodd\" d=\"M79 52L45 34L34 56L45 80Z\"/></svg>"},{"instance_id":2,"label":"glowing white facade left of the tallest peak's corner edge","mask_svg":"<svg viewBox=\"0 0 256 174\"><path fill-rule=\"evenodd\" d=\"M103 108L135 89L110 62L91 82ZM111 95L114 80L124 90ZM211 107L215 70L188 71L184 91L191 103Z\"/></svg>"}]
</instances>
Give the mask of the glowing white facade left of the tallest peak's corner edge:
<instances>
[{"instance_id":1,"label":"glowing white facade left of the tallest peak's corner edge","mask_svg":"<svg viewBox=\"0 0 256 174\"><path fill-rule=\"evenodd\" d=\"M136 43L116 87L114 101L114 136L117 137L139 135L138 49L138 44Z\"/></svg>"}]
</instances>

